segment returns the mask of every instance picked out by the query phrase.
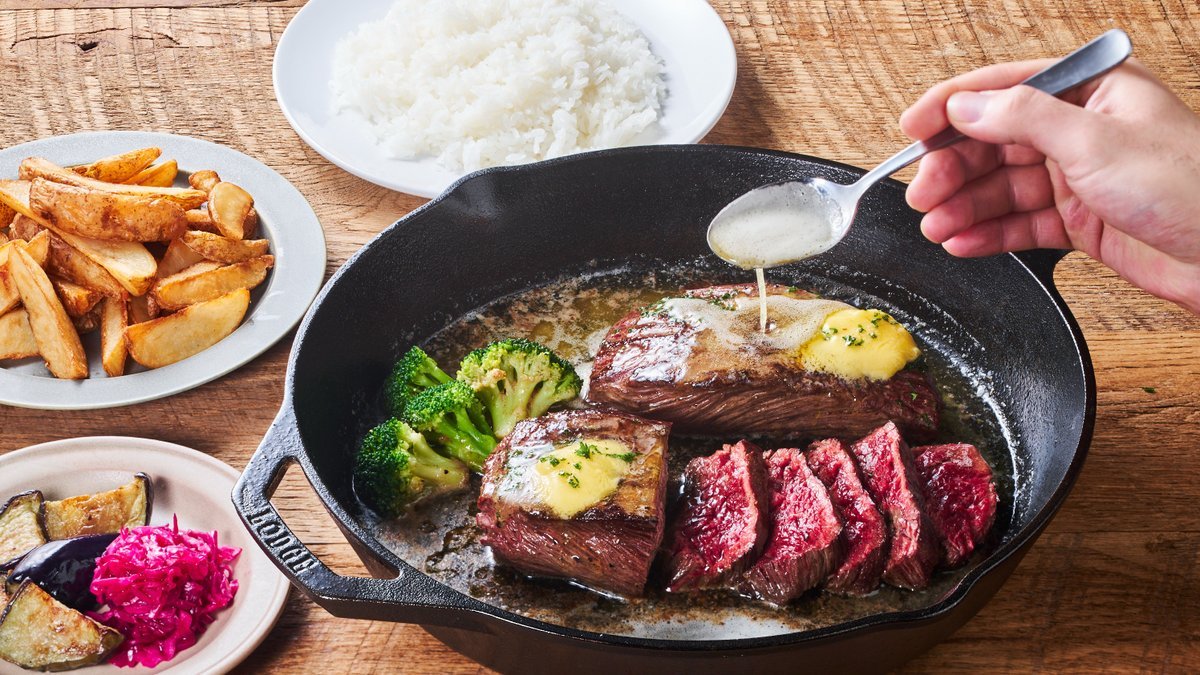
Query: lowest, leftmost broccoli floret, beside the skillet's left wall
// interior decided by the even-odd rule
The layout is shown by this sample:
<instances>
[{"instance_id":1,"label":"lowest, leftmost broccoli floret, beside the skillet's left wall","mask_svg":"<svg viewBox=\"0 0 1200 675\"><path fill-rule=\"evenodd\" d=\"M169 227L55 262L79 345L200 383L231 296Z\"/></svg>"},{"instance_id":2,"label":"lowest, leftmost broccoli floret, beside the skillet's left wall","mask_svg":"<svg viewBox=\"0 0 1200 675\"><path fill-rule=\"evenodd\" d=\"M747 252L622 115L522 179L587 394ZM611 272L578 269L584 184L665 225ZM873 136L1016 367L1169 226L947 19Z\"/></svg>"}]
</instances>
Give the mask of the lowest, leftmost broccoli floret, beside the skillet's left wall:
<instances>
[{"instance_id":1,"label":"lowest, leftmost broccoli floret, beside the skillet's left wall","mask_svg":"<svg viewBox=\"0 0 1200 675\"><path fill-rule=\"evenodd\" d=\"M467 484L461 461L444 458L412 426L395 417L367 431L354 461L354 485L386 518L425 497Z\"/></svg>"}]
</instances>

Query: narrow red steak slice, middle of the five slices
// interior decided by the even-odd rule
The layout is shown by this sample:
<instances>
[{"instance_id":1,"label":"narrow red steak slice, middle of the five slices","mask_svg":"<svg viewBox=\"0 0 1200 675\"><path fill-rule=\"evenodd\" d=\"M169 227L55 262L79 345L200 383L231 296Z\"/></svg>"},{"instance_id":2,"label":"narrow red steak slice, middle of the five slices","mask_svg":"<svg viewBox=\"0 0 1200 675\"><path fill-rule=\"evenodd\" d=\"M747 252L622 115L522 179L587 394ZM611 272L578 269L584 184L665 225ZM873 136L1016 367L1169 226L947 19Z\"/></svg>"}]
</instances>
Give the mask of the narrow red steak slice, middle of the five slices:
<instances>
[{"instance_id":1,"label":"narrow red steak slice, middle of the five slices","mask_svg":"<svg viewBox=\"0 0 1200 675\"><path fill-rule=\"evenodd\" d=\"M858 468L836 438L817 441L805 453L812 473L829 490L841 516L841 565L829 575L826 590L865 596L880 585L888 556L888 528L875 500L858 478Z\"/></svg>"}]
</instances>

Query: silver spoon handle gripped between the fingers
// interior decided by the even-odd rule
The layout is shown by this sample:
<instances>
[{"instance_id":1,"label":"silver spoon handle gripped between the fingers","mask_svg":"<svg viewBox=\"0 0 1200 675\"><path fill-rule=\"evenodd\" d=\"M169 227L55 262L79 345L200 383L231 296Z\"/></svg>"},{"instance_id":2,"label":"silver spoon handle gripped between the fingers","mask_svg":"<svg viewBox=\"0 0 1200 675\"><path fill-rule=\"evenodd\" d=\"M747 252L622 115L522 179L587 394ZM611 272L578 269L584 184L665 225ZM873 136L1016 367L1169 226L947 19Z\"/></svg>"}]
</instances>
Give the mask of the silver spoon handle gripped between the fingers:
<instances>
[{"instance_id":1,"label":"silver spoon handle gripped between the fingers","mask_svg":"<svg viewBox=\"0 0 1200 675\"><path fill-rule=\"evenodd\" d=\"M1126 31L1115 28L1067 54L1045 70L1032 74L1021 84L1058 96L1120 66L1132 53L1133 44L1129 42L1129 36L1126 35ZM918 141L868 172L858 181L859 190L864 191L926 154L953 145L965 138L966 136L959 133L956 129L948 126L924 141Z\"/></svg>"}]
</instances>

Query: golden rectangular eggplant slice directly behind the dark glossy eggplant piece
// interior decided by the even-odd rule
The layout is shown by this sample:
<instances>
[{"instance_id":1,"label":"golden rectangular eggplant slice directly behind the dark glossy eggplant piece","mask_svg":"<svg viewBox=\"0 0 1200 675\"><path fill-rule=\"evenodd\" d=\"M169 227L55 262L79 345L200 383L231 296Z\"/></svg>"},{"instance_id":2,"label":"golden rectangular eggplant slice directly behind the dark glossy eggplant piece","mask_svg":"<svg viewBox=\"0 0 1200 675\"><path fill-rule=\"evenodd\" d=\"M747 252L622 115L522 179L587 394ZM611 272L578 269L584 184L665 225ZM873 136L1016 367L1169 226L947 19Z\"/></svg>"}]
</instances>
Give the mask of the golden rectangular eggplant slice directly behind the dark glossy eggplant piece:
<instances>
[{"instance_id":1,"label":"golden rectangular eggplant slice directly behind the dark glossy eggplant piece","mask_svg":"<svg viewBox=\"0 0 1200 675\"><path fill-rule=\"evenodd\" d=\"M70 539L146 525L152 498L150 477L137 473L127 485L108 492L46 502L46 533L50 539Z\"/></svg>"}]
</instances>

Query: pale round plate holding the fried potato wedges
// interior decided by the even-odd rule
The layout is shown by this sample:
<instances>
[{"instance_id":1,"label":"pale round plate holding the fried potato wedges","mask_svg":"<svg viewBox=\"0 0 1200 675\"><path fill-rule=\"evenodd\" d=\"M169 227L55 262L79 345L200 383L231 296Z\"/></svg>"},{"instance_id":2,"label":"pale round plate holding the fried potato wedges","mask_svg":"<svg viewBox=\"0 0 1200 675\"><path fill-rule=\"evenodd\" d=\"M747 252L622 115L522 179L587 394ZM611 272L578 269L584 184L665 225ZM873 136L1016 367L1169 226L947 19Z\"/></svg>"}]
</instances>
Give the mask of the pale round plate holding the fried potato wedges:
<instances>
[{"instance_id":1,"label":"pale round plate holding the fried potato wedges","mask_svg":"<svg viewBox=\"0 0 1200 675\"><path fill-rule=\"evenodd\" d=\"M0 368L0 404L43 410L86 410L125 406L178 394L234 370L266 351L304 317L325 276L325 233L308 202L282 175L246 155L196 138L170 133L103 131L55 136L0 150L0 178L16 178L31 155L60 165L92 160L156 145L163 159L179 161L184 172L215 169L254 196L260 237L270 239L275 268L253 291L250 310L232 335L179 363L145 370L128 360L126 375L107 377L100 363L100 338L84 336L90 359L88 380L56 380L40 359Z\"/></svg>"}]
</instances>

